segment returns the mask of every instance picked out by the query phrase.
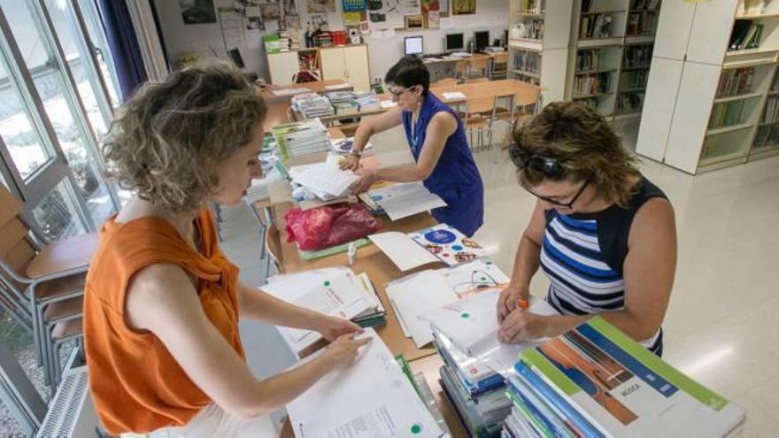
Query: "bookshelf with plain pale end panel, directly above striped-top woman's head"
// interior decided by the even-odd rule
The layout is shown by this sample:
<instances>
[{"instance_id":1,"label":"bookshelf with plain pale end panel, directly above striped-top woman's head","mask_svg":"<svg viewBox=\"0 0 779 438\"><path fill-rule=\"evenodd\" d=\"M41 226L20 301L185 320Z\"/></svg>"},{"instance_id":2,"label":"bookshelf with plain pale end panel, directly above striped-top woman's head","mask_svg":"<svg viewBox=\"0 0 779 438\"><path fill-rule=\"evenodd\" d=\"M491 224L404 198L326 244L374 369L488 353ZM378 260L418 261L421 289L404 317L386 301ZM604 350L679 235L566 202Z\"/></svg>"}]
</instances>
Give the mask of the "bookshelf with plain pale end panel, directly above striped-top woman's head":
<instances>
[{"instance_id":1,"label":"bookshelf with plain pale end panel, directly above striped-top woman's head","mask_svg":"<svg viewBox=\"0 0 779 438\"><path fill-rule=\"evenodd\" d=\"M544 103L563 100L574 0L512 0L510 78L540 85Z\"/></svg>"}]
</instances>

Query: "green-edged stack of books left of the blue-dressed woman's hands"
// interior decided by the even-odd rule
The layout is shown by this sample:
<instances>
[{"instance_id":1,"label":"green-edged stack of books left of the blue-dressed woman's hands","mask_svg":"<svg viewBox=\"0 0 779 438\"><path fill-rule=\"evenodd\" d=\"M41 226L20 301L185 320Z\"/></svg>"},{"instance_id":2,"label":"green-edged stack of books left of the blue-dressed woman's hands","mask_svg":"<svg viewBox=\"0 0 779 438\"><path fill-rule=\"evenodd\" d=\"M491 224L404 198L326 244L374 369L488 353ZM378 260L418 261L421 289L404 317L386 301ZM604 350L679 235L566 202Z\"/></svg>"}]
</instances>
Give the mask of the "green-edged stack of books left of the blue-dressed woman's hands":
<instances>
[{"instance_id":1,"label":"green-edged stack of books left of the blue-dressed woman's hands","mask_svg":"<svg viewBox=\"0 0 779 438\"><path fill-rule=\"evenodd\" d=\"M277 125L272 129L282 159L325 152L330 148L328 128L320 119Z\"/></svg>"}]
</instances>

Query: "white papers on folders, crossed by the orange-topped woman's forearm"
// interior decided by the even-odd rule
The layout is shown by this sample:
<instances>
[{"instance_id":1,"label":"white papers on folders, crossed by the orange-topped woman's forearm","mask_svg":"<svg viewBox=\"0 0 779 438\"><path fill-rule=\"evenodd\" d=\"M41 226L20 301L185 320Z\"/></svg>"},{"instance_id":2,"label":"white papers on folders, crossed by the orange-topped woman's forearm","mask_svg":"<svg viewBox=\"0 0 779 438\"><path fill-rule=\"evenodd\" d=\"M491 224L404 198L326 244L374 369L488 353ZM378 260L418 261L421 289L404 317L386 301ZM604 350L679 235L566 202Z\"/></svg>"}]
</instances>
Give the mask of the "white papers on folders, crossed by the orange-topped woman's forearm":
<instances>
[{"instance_id":1,"label":"white papers on folders, crossed by the orange-topped woman's forearm","mask_svg":"<svg viewBox=\"0 0 779 438\"><path fill-rule=\"evenodd\" d=\"M363 327L381 326L386 311L365 273L354 275L344 267L326 268L270 277L266 293L292 304L344 319ZM296 354L321 339L311 330L279 327L282 337Z\"/></svg>"}]
</instances>

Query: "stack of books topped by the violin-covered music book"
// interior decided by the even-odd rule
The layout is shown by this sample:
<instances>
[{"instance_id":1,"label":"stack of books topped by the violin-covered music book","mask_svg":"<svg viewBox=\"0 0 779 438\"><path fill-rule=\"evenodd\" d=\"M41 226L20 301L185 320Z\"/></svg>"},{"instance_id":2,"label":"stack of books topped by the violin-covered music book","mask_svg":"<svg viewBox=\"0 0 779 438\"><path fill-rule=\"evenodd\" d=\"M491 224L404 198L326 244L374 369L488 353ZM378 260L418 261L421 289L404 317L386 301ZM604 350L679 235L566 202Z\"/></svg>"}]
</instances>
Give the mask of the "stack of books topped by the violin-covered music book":
<instances>
[{"instance_id":1,"label":"stack of books topped by the violin-covered music book","mask_svg":"<svg viewBox=\"0 0 779 438\"><path fill-rule=\"evenodd\" d=\"M503 437L733 436L743 410L596 317L523 350Z\"/></svg>"}]
</instances>

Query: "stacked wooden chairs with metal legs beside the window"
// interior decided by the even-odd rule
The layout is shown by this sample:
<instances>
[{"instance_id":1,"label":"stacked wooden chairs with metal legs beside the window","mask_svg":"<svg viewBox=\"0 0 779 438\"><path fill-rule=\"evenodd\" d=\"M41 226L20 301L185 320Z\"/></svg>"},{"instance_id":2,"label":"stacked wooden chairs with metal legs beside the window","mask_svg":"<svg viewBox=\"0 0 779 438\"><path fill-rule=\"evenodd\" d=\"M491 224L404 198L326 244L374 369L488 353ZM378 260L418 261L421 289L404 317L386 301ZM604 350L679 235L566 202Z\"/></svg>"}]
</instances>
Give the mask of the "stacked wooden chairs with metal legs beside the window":
<instances>
[{"instance_id":1,"label":"stacked wooden chairs with metal legs beside the window","mask_svg":"<svg viewBox=\"0 0 779 438\"><path fill-rule=\"evenodd\" d=\"M0 185L0 305L33 334L46 384L56 391L57 349L81 336L81 306L96 233L39 244L19 218L16 197Z\"/></svg>"}]
</instances>

